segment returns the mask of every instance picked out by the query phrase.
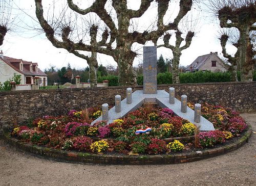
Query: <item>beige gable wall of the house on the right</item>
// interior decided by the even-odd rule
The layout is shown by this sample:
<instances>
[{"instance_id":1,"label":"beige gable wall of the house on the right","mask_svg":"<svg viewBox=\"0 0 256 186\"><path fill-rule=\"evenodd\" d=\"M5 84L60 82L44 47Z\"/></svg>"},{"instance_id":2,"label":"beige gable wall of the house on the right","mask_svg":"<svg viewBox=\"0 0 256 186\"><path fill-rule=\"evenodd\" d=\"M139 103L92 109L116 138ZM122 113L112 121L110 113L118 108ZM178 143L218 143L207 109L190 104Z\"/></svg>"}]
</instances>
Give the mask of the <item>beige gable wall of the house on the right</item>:
<instances>
[{"instance_id":1,"label":"beige gable wall of the house on the right","mask_svg":"<svg viewBox=\"0 0 256 186\"><path fill-rule=\"evenodd\" d=\"M211 61L216 61L216 67L212 67L211 66ZM210 70L212 72L214 71L221 71L221 72L225 72L227 71L225 68L224 68L224 63L221 61L221 59L216 55L212 55L206 62L205 64L200 67L199 70Z\"/></svg>"}]
</instances>

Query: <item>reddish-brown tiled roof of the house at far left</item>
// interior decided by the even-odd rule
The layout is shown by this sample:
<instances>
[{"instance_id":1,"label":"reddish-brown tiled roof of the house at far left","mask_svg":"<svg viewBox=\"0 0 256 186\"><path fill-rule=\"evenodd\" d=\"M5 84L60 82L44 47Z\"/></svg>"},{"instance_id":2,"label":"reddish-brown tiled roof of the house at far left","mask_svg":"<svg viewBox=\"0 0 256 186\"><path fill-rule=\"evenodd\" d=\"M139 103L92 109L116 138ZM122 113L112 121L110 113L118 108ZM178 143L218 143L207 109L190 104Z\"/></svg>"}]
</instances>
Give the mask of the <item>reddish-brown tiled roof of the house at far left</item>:
<instances>
[{"instance_id":1,"label":"reddish-brown tiled roof of the house at far left","mask_svg":"<svg viewBox=\"0 0 256 186\"><path fill-rule=\"evenodd\" d=\"M1 58L1 57L0 57ZM47 74L45 74L43 71L41 71L39 68L38 72L36 71L29 71L29 69L26 69L25 67L22 70L19 70L19 65L17 65L16 63L20 63L23 62L24 65L33 65L33 64L37 64L37 63L32 63L32 62L28 62L28 61L24 61L22 59L15 59L15 58L10 58L7 56L4 56L3 58L1 58L5 63L7 63L10 67L12 67L14 70L16 70L19 73L22 73L24 75L32 75L32 76L48 76Z\"/></svg>"}]
</instances>

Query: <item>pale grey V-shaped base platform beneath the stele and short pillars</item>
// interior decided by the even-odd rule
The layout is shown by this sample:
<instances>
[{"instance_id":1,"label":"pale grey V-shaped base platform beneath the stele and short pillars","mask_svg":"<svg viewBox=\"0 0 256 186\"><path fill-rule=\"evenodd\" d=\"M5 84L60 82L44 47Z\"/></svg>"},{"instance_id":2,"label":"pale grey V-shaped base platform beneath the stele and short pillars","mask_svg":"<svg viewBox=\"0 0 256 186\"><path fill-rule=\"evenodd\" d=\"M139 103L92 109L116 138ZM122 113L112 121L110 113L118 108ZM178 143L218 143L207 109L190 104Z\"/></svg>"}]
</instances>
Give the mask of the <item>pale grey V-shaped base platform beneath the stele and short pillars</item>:
<instances>
[{"instance_id":1,"label":"pale grey V-shaped base platform beneath the stele and short pillars","mask_svg":"<svg viewBox=\"0 0 256 186\"><path fill-rule=\"evenodd\" d=\"M142 90L137 90L132 94L132 103L127 104L126 98L121 101L121 112L116 113L115 107L109 110L109 121L112 123L115 119L125 117L128 113L137 110L144 102L157 102L159 107L169 108L174 111L177 116L187 119L189 122L194 123L200 127L200 131L215 130L214 125L201 116L200 123L194 122L194 110L187 107L187 112L181 112L181 101L175 98L175 103L169 103L169 94L164 90L158 90L157 94L143 94ZM92 122L101 121L102 116Z\"/></svg>"}]
</instances>

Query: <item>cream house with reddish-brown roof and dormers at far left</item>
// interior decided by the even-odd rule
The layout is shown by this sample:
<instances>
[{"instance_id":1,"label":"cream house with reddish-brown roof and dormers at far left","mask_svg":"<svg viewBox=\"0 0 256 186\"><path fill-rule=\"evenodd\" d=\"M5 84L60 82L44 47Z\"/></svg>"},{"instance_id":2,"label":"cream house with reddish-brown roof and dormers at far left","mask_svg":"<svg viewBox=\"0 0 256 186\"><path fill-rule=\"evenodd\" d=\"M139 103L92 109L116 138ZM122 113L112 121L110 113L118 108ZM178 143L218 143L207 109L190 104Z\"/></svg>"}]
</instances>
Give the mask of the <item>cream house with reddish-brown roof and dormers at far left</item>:
<instances>
[{"instance_id":1,"label":"cream house with reddish-brown roof and dormers at far left","mask_svg":"<svg viewBox=\"0 0 256 186\"><path fill-rule=\"evenodd\" d=\"M47 80L47 74L42 72L37 63L24 61L22 59L10 58L0 52L0 82L4 83L13 75L21 75L22 81L20 84L34 84L34 77L39 77L39 82L43 82L44 78Z\"/></svg>"}]
</instances>

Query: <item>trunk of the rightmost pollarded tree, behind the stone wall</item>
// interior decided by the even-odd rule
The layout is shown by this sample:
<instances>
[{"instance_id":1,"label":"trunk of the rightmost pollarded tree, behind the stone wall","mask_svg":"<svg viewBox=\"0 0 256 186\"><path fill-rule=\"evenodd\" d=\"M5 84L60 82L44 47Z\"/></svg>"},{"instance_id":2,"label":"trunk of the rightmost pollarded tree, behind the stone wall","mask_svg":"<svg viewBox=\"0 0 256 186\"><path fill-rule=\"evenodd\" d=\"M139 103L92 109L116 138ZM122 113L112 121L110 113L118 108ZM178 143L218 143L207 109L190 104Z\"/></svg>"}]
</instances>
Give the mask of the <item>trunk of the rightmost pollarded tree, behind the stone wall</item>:
<instances>
[{"instance_id":1,"label":"trunk of the rightmost pollarded tree, behind the stone wall","mask_svg":"<svg viewBox=\"0 0 256 186\"><path fill-rule=\"evenodd\" d=\"M241 82L252 81L253 60L251 55L251 43L249 39L249 27L245 26L240 29L240 67Z\"/></svg>"}]
</instances>

